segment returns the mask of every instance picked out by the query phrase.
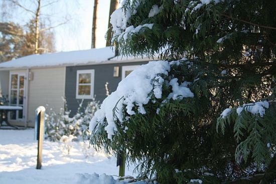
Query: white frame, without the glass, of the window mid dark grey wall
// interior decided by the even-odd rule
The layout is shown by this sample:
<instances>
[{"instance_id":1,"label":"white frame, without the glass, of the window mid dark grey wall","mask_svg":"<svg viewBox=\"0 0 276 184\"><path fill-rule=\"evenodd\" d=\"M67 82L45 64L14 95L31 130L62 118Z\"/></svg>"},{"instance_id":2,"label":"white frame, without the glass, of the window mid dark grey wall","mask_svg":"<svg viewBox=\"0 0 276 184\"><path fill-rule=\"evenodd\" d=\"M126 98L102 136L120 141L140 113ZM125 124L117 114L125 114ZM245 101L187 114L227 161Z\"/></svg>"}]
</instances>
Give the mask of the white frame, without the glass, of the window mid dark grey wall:
<instances>
[{"instance_id":1,"label":"white frame, without the glass, of the window mid dark grey wall","mask_svg":"<svg viewBox=\"0 0 276 184\"><path fill-rule=\"evenodd\" d=\"M79 95L79 74L91 74L90 95ZM76 99L92 99L94 97L95 70L77 70Z\"/></svg>"}]
</instances>

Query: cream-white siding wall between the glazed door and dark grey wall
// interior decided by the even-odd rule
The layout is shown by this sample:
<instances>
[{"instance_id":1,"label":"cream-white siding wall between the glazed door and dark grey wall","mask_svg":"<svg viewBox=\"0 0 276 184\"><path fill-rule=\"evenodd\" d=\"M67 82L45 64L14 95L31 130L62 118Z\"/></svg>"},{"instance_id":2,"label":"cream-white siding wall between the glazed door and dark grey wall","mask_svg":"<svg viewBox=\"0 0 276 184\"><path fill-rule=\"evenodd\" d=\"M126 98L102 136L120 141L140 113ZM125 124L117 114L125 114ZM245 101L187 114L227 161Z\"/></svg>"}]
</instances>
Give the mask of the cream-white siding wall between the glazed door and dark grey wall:
<instances>
[{"instance_id":1,"label":"cream-white siding wall between the glazed door and dark grey wall","mask_svg":"<svg viewBox=\"0 0 276 184\"><path fill-rule=\"evenodd\" d=\"M65 67L31 69L33 80L29 81L28 126L34 126L35 110L48 104L49 108L59 112L64 104ZM47 112L46 112L47 113Z\"/></svg>"}]
</instances>

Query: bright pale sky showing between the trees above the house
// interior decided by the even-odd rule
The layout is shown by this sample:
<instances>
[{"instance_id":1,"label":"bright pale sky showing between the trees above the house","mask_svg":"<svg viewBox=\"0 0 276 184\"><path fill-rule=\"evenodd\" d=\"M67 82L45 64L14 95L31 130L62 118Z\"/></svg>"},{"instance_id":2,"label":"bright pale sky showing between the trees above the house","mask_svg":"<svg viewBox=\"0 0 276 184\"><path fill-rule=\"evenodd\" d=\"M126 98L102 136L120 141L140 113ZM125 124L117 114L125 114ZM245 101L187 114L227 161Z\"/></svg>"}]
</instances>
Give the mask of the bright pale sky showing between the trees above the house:
<instances>
[{"instance_id":1,"label":"bright pale sky showing between the trees above the house","mask_svg":"<svg viewBox=\"0 0 276 184\"><path fill-rule=\"evenodd\" d=\"M35 0L19 0L19 2L30 10L36 8ZM42 0L41 19L51 26L66 22L52 29L55 33L56 51L90 49L94 0L59 0L43 7L51 2L55 0ZM110 0L99 0L96 48L105 47L106 44L105 33L108 27L109 6ZM8 7L7 10L10 14L9 19L20 25L26 24L32 17L31 13L22 8Z\"/></svg>"}]
</instances>

